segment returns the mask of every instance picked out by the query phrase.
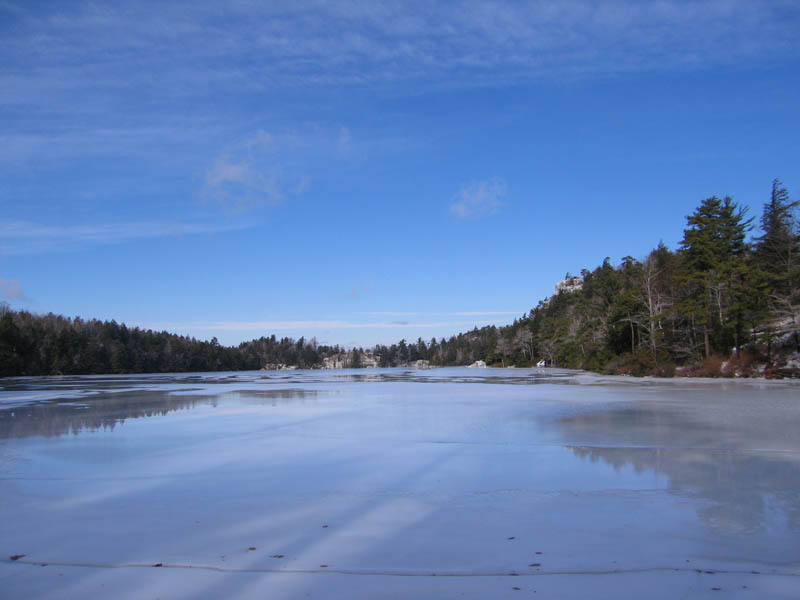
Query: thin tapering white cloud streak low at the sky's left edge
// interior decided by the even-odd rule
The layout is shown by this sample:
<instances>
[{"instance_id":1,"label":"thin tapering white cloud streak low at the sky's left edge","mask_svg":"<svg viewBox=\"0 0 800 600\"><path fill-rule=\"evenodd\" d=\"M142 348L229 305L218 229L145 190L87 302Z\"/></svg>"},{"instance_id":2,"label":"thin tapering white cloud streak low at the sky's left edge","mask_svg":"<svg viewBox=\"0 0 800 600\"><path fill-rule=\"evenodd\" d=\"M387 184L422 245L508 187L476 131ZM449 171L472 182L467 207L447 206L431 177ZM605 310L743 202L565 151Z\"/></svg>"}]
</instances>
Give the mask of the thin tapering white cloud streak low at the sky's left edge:
<instances>
[{"instance_id":1,"label":"thin tapering white cloud streak low at the sky's left edge","mask_svg":"<svg viewBox=\"0 0 800 600\"><path fill-rule=\"evenodd\" d=\"M244 229L236 223L125 222L86 225L45 225L30 221L0 221L0 255L74 252L91 246L120 244L156 237L212 234Z\"/></svg>"}]
</instances>

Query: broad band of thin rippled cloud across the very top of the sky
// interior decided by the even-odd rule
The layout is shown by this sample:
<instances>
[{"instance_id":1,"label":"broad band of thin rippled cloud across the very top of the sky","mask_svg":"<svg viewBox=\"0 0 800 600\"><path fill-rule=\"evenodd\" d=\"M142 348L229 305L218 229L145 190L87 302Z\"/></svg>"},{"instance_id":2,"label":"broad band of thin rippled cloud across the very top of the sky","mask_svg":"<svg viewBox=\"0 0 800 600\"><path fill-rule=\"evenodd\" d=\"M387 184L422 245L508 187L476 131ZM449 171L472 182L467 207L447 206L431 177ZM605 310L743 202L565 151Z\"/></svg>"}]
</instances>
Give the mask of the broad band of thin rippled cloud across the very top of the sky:
<instances>
[{"instance_id":1,"label":"broad band of thin rippled cloud across the very top of the sky","mask_svg":"<svg viewBox=\"0 0 800 600\"><path fill-rule=\"evenodd\" d=\"M188 0L139 2L135 11L16 8L4 11L0 52L30 68L0 79L12 101L52 101L43 91L64 99L109 89L164 98L409 80L463 87L746 66L796 59L800 49L794 0L297 0L237 2L224 18L217 2Z\"/></svg>"}]
</instances>

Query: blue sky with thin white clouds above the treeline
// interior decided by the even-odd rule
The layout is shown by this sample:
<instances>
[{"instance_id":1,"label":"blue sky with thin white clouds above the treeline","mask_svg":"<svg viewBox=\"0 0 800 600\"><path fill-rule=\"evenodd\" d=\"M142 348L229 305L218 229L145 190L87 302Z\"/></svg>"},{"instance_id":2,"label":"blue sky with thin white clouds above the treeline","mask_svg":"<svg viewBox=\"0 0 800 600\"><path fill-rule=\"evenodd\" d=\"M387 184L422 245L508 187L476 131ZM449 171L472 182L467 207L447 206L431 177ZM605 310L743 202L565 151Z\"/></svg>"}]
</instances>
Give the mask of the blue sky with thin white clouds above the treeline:
<instances>
[{"instance_id":1,"label":"blue sky with thin white clouds above the treeline","mask_svg":"<svg viewBox=\"0 0 800 600\"><path fill-rule=\"evenodd\" d=\"M800 4L0 1L0 294L235 344L504 324L800 190Z\"/></svg>"}]
</instances>

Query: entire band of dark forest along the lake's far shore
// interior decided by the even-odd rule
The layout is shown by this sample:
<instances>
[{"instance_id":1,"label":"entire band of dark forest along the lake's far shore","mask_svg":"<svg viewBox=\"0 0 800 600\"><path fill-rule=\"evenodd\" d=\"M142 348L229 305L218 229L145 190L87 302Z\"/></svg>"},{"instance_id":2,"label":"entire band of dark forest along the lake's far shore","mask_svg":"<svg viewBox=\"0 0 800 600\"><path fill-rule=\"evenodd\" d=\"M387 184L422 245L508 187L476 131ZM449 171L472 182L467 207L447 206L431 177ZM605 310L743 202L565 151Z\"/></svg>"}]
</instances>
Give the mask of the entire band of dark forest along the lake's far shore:
<instances>
[{"instance_id":1,"label":"entire band of dark forest along the lake's far shore","mask_svg":"<svg viewBox=\"0 0 800 600\"><path fill-rule=\"evenodd\" d=\"M506 327L366 351L262 337L238 347L114 321L35 315L0 306L0 376L250 370L265 365L358 367L418 360L548 365L608 373L767 375L797 371L800 228L779 181L758 224L731 198L708 198L687 217L680 247L609 259ZM753 235L755 234L755 235ZM794 361L794 362L792 362Z\"/></svg>"}]
</instances>

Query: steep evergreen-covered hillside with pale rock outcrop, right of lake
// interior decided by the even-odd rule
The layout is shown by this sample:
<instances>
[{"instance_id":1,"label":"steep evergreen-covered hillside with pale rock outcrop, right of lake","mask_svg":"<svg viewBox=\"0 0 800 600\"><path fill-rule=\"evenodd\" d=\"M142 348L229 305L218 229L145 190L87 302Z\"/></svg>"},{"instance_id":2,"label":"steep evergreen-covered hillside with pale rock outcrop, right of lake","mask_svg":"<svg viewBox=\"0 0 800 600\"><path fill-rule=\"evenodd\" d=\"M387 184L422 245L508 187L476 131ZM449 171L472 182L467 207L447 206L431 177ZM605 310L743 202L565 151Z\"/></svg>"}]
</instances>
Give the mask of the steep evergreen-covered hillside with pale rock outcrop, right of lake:
<instances>
[{"instance_id":1,"label":"steep evergreen-covered hillside with pale rock outcrop, right of lake","mask_svg":"<svg viewBox=\"0 0 800 600\"><path fill-rule=\"evenodd\" d=\"M671 375L676 366L687 374L750 375L761 365L780 375L800 352L797 206L776 180L756 229L730 198L708 198L687 217L676 251L660 243L641 260L627 256L614 267L606 259L573 279L574 291L512 325L461 334L444 352L441 344L436 360L544 359L637 375Z\"/></svg>"}]
</instances>

